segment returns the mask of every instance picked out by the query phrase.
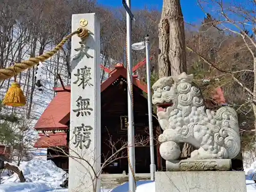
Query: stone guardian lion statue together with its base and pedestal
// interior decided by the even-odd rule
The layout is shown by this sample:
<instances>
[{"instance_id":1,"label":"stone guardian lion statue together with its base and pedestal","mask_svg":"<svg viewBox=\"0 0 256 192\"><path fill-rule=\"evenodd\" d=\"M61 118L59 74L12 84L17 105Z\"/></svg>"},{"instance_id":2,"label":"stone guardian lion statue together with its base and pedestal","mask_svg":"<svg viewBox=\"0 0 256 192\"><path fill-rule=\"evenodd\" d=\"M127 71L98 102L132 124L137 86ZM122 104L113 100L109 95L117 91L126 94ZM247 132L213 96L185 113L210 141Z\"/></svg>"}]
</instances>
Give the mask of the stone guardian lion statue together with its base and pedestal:
<instances>
[{"instance_id":1,"label":"stone guardian lion statue together with its base and pedestal","mask_svg":"<svg viewBox=\"0 0 256 192\"><path fill-rule=\"evenodd\" d=\"M245 174L231 170L241 143L234 109L206 109L193 74L162 77L153 85L153 104L163 133L158 140L168 172L156 172L156 191L246 192ZM181 146L195 148L180 160Z\"/></svg>"}]
</instances>

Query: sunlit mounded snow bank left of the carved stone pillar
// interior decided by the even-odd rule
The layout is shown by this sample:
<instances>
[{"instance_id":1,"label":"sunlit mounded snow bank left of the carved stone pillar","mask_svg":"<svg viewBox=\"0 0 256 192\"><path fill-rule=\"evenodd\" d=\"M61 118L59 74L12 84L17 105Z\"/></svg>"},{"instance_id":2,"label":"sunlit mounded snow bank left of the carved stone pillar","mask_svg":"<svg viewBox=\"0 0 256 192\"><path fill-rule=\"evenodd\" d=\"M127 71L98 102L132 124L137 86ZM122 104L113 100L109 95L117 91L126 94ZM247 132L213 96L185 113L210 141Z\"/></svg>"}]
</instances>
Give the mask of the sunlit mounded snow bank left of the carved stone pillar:
<instances>
[{"instance_id":1,"label":"sunlit mounded snow bank left of the carved stone pillar","mask_svg":"<svg viewBox=\"0 0 256 192\"><path fill-rule=\"evenodd\" d=\"M22 162L19 167L23 170L26 182L51 183L54 188L59 188L62 183L62 176L66 173L51 160L32 159L28 162ZM17 174L10 177L5 176L2 181L2 183L17 182L19 182Z\"/></svg>"}]
</instances>

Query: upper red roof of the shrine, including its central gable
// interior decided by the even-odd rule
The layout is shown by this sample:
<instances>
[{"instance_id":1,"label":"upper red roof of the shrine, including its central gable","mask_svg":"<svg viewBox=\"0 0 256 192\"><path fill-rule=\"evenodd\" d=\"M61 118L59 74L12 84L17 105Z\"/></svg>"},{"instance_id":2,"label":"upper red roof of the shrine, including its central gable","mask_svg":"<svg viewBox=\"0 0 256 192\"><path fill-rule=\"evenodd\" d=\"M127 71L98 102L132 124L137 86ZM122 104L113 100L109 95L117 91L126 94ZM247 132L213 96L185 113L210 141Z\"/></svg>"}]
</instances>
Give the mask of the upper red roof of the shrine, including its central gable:
<instances>
[{"instance_id":1,"label":"upper red roof of the shrine, including its central gable","mask_svg":"<svg viewBox=\"0 0 256 192\"><path fill-rule=\"evenodd\" d=\"M101 83L101 92L108 88L118 77L126 78L127 71L121 63L117 63L115 69L109 75L110 77ZM133 84L147 93L146 84L140 82L136 76L133 76ZM57 94L35 124L37 131L68 129L66 123L70 116L70 87L53 89Z\"/></svg>"}]
</instances>

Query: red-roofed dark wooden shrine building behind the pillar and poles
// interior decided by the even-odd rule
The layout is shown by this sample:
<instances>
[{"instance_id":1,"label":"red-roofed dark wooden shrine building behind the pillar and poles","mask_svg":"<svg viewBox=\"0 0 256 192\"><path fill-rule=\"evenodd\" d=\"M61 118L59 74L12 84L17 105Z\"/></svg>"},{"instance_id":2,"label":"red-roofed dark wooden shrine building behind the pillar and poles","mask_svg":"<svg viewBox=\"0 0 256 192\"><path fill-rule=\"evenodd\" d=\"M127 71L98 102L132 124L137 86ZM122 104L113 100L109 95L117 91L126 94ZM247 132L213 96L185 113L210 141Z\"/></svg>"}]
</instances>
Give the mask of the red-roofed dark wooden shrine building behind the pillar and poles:
<instances>
[{"instance_id":1,"label":"red-roofed dark wooden shrine building behind the pillar and poles","mask_svg":"<svg viewBox=\"0 0 256 192\"><path fill-rule=\"evenodd\" d=\"M133 69L135 71L137 67ZM109 72L109 78L101 83L101 163L104 157L112 153L109 146L118 140L127 142L127 71L122 64L118 63L113 70L104 69ZM56 95L47 106L46 110L37 123L35 129L39 132L40 138L35 143L37 148L47 148L48 160L51 159L58 167L68 169L69 158L60 152L56 152L56 147L62 148L68 153L69 127L70 127L70 87L53 88ZM136 173L150 173L150 142L148 130L147 98L143 95L147 93L146 84L140 82L137 76L133 76L133 97L134 97L134 129L135 137L143 137L147 141L143 146L135 147ZM157 139L160 126L156 114L153 114L154 137ZM155 164L156 169L162 169L162 161L159 146L155 139ZM122 147L122 142L116 144L116 148ZM124 152L127 156L127 150ZM122 154L123 156L123 154ZM117 158L112 164L103 169L104 173L122 174L125 170L128 173L128 160Z\"/></svg>"}]
</instances>

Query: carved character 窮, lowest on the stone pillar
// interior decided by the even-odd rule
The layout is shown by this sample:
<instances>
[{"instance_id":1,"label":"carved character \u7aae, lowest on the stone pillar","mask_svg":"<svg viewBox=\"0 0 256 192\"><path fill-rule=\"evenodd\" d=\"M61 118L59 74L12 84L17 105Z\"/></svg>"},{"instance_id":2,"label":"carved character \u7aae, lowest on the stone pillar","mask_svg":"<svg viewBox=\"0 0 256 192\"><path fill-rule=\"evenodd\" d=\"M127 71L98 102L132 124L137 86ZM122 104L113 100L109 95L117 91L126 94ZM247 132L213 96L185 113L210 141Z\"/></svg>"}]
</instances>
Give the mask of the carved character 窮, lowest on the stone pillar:
<instances>
[{"instance_id":1,"label":"carved character \u7aae, lowest on the stone pillar","mask_svg":"<svg viewBox=\"0 0 256 192\"><path fill-rule=\"evenodd\" d=\"M82 149L82 147L86 147L86 149L89 148L91 144L91 130L93 130L93 127L91 125L84 125L83 123L81 126L75 126L73 134L75 135L75 141L74 145L75 147L78 147Z\"/></svg>"}]
</instances>

